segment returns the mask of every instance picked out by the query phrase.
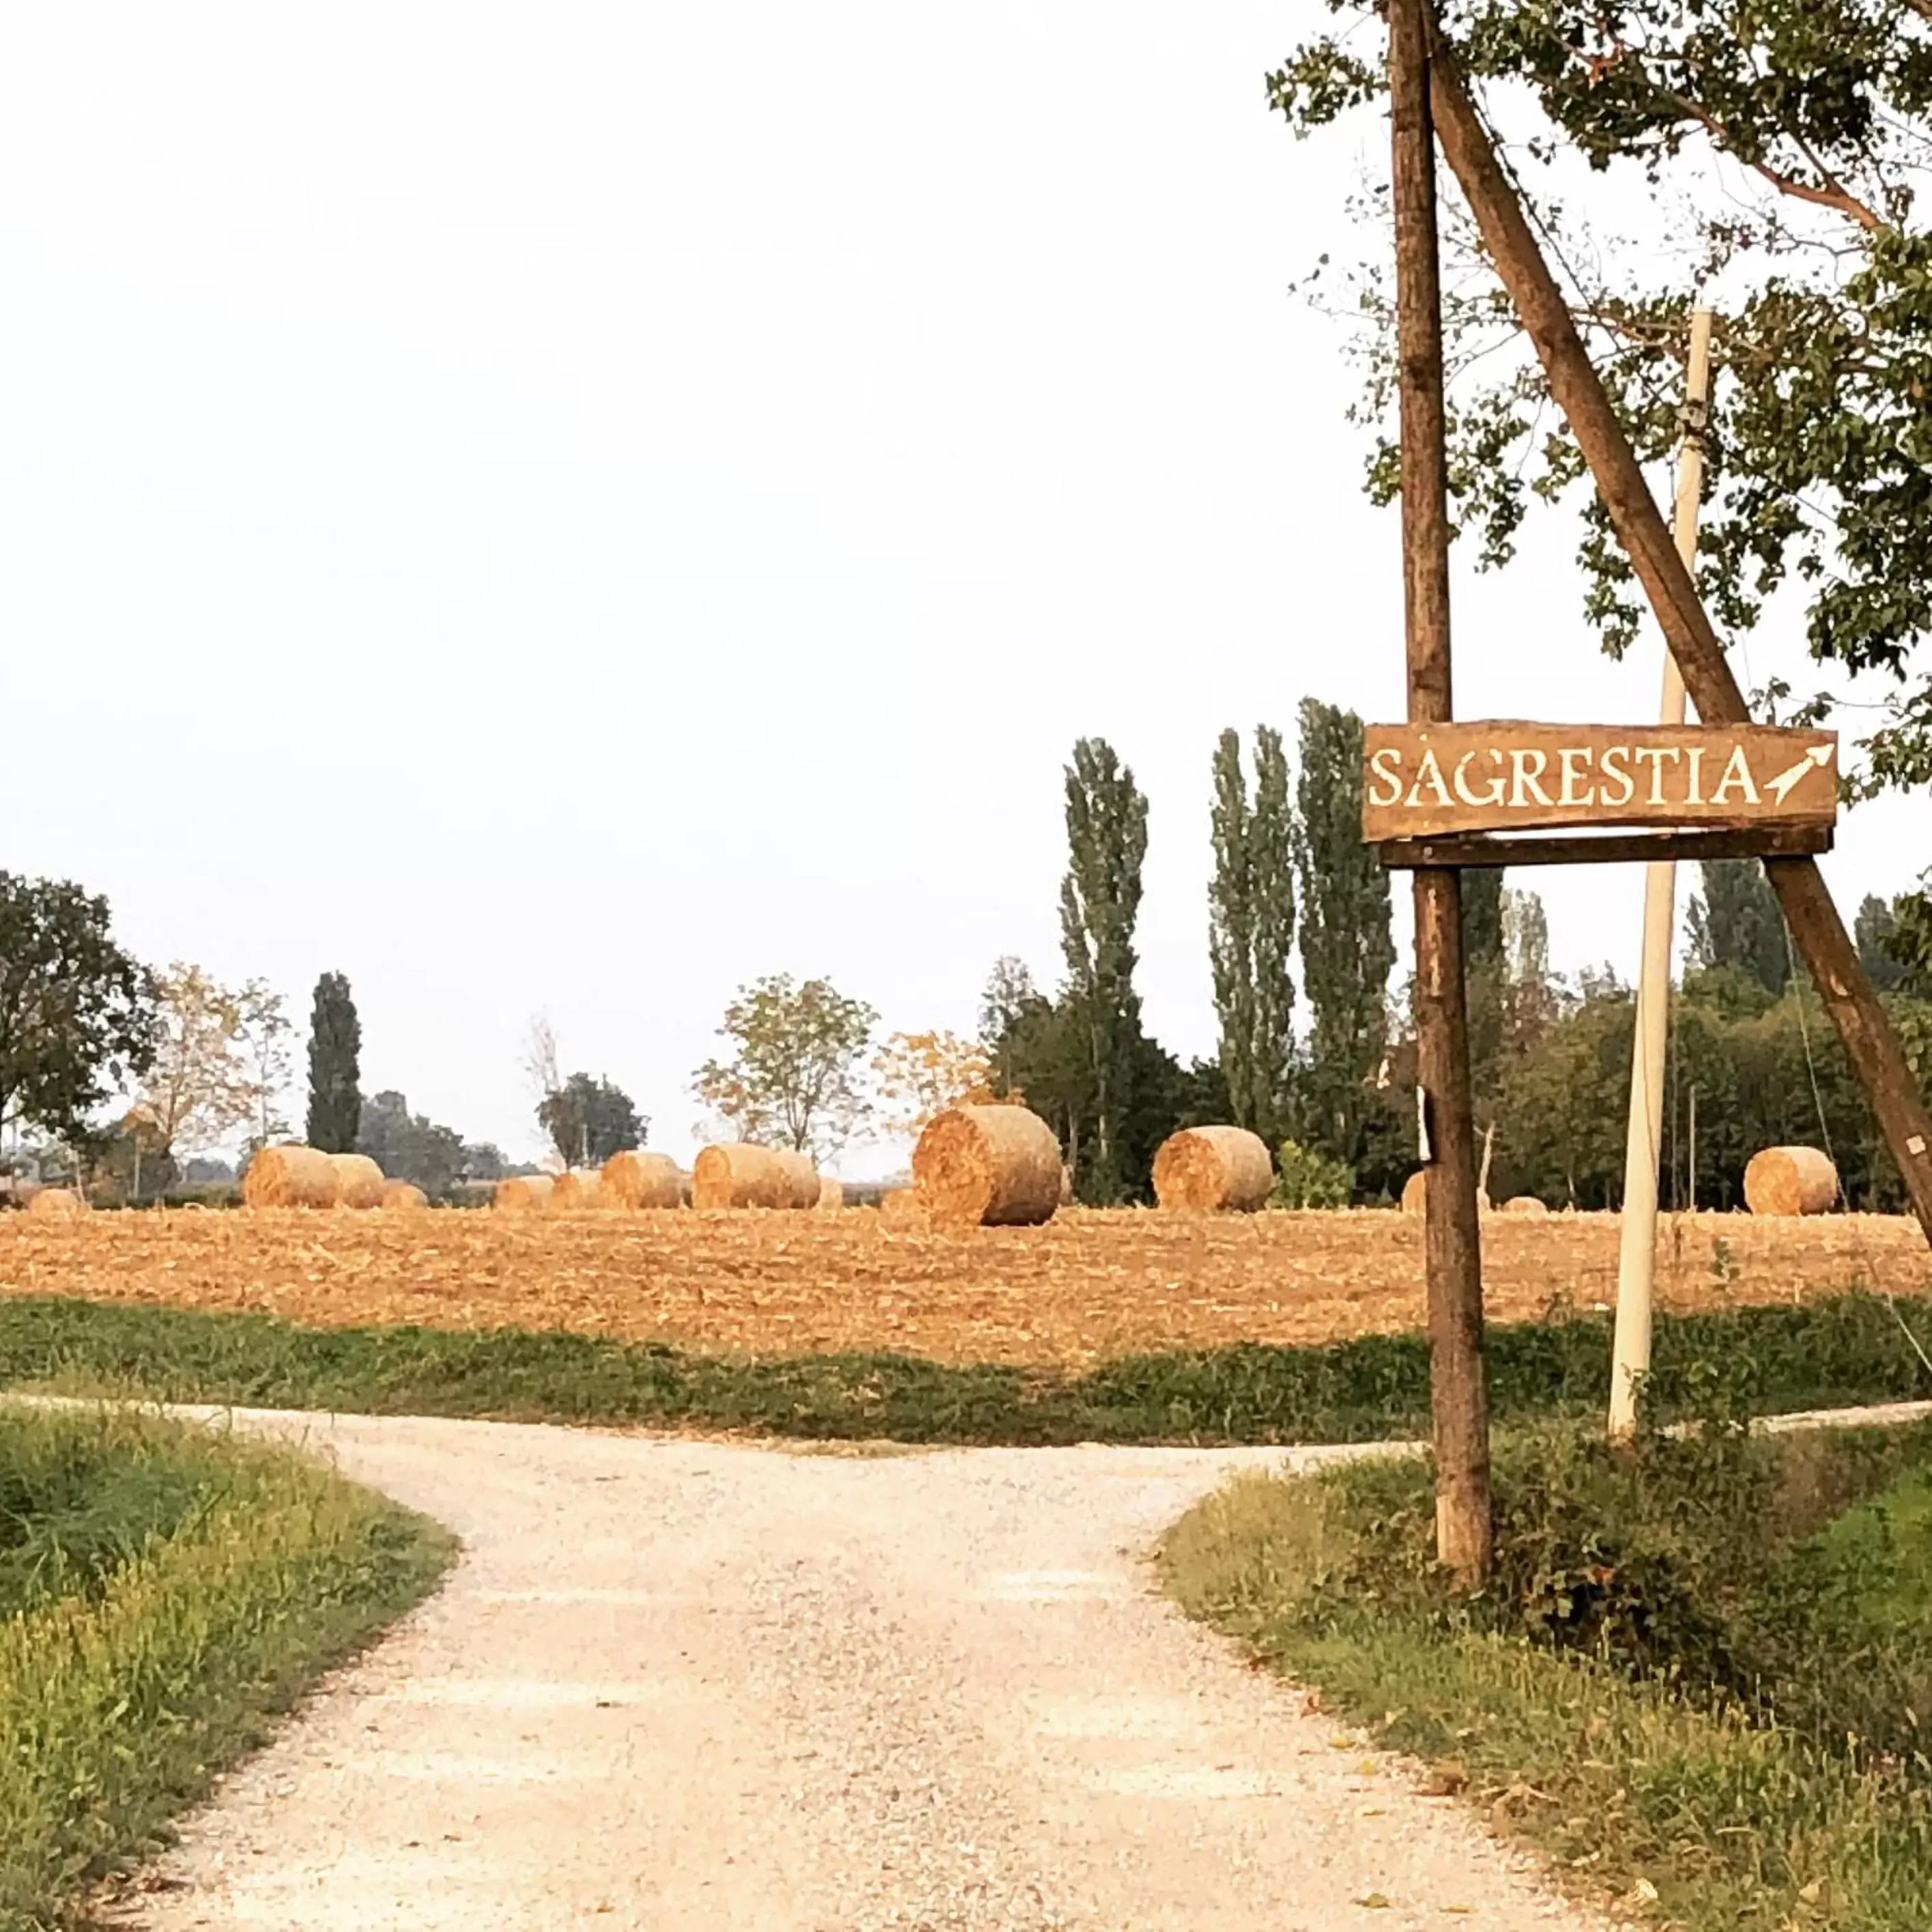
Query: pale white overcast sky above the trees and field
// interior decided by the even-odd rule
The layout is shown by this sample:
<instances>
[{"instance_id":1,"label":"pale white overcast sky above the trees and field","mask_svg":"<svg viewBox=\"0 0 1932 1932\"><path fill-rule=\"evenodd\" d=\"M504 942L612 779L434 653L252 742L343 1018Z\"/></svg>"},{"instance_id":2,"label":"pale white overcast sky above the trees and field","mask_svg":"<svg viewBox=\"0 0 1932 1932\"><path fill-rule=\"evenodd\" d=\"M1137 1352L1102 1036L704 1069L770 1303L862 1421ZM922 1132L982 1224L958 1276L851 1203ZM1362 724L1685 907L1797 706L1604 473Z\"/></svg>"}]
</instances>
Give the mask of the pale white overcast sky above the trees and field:
<instances>
[{"instance_id":1,"label":"pale white overcast sky above the trees and field","mask_svg":"<svg viewBox=\"0 0 1932 1932\"><path fill-rule=\"evenodd\" d=\"M1395 518L1291 288L1385 133L1262 91L1325 19L14 8L0 867L303 1018L346 972L365 1090L514 1155L543 1009L688 1155L757 974L885 1030L1057 976L1097 732L1151 800L1148 1022L1209 1053L1215 734L1403 703ZM1459 713L1654 717L1660 645L1598 657L1540 529L1459 576ZM1928 852L1891 802L1828 875ZM1517 883L1559 966L1633 970L1634 871Z\"/></svg>"}]
</instances>

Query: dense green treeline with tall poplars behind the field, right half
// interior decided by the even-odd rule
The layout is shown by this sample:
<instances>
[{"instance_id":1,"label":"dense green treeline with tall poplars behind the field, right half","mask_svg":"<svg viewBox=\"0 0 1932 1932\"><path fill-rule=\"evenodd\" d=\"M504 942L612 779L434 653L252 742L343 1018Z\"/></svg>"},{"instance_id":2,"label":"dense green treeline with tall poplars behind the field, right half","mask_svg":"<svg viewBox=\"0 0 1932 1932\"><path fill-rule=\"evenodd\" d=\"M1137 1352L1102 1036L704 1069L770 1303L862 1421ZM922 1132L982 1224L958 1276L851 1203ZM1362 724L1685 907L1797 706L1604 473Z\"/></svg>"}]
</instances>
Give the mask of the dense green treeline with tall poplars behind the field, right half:
<instances>
[{"instance_id":1,"label":"dense green treeline with tall poplars behind the field, right half","mask_svg":"<svg viewBox=\"0 0 1932 1932\"><path fill-rule=\"evenodd\" d=\"M981 997L991 1086L1061 1136L1082 1202L1148 1200L1153 1151L1177 1128L1231 1122L1277 1153L1283 1206L1397 1200L1418 1165L1412 976L1397 980L1391 879L1360 835L1362 721L1304 699L1291 759L1279 730L1213 752L1208 947L1219 1051L1182 1065L1142 1022L1134 987L1148 800L1101 738L1065 773L1065 974L1053 993L1001 958ZM1617 1208L1634 993L1607 966L1549 966L1534 891L1463 873L1470 1061L1488 1192ZM1868 896L1866 972L1913 1072L1932 1076L1932 947L1924 895ZM1667 1208L1743 1204L1766 1146L1822 1146L1851 1206L1903 1206L1897 1173L1756 860L1700 867L1671 993ZM1694 1109L1694 1122L1692 1122Z\"/></svg>"}]
</instances>

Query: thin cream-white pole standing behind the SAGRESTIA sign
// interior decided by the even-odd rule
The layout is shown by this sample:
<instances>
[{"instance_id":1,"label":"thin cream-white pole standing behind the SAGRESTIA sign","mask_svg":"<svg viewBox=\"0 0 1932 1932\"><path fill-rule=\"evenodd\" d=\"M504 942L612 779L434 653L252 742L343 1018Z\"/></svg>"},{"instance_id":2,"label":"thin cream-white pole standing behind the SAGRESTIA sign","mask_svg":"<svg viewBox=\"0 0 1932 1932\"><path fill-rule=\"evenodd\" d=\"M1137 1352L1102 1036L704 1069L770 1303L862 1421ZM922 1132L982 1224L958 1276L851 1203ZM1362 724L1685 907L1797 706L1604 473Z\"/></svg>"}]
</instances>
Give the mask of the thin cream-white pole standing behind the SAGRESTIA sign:
<instances>
[{"instance_id":1,"label":"thin cream-white pole standing behind the SAGRESTIA sign","mask_svg":"<svg viewBox=\"0 0 1932 1932\"><path fill-rule=\"evenodd\" d=\"M1685 373L1685 440L1677 456L1677 554L1696 558L1696 512L1704 495L1704 417L1710 408L1710 309L1690 313ZM1685 680L1663 653L1665 724L1685 721ZM1658 1153L1663 1144L1663 1043L1671 1007L1671 931L1677 923L1677 867L1644 867L1644 962L1636 980L1636 1036L1631 1041L1631 1128L1623 1151L1623 1225L1617 1250L1617 1333L1609 1356L1609 1434L1625 1441L1636 1428L1636 1389L1650 1372L1650 1291L1658 1262Z\"/></svg>"}]
</instances>

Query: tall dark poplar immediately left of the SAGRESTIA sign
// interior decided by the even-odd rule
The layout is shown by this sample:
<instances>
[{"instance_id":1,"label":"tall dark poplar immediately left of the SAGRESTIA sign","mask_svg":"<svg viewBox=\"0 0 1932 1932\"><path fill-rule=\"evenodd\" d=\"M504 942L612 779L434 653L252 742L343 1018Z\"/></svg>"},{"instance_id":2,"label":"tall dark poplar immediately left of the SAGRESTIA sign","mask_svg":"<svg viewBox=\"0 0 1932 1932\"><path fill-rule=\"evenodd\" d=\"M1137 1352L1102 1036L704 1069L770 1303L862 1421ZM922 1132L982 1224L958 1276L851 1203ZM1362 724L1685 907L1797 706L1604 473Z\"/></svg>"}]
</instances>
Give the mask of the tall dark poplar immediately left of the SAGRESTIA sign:
<instances>
[{"instance_id":1,"label":"tall dark poplar immediately left of the SAGRESTIA sign","mask_svg":"<svg viewBox=\"0 0 1932 1932\"><path fill-rule=\"evenodd\" d=\"M1389 1037L1389 875L1362 844L1362 721L1300 705L1294 869L1308 993L1304 1138L1354 1167ZM1466 875L1464 875L1466 877Z\"/></svg>"}]
</instances>

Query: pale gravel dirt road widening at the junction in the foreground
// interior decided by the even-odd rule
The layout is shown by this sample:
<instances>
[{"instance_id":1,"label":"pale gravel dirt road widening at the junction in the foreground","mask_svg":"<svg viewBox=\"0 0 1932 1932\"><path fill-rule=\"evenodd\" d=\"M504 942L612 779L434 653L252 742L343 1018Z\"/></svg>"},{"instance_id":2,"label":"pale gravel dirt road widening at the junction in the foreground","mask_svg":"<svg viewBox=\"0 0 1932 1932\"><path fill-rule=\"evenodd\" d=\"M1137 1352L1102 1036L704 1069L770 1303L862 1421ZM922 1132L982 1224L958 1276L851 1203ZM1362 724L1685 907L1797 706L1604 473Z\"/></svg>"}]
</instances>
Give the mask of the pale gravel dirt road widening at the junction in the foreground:
<instances>
[{"instance_id":1,"label":"pale gravel dirt road widening at the junction in the foreground","mask_svg":"<svg viewBox=\"0 0 1932 1932\"><path fill-rule=\"evenodd\" d=\"M1153 1594L1150 1540L1281 1451L259 1426L468 1555L187 1822L126 1926L1586 1924Z\"/></svg>"}]
</instances>

